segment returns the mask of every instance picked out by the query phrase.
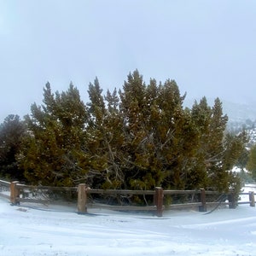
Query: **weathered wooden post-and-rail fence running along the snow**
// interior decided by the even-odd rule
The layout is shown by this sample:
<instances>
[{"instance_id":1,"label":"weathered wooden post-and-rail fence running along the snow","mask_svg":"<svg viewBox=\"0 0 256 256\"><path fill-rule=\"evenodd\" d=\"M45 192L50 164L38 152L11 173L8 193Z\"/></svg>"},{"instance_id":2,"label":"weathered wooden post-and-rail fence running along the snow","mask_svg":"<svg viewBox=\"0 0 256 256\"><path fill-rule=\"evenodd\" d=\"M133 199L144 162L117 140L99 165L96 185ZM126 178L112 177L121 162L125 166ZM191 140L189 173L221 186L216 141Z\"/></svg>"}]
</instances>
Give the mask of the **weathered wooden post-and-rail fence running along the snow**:
<instances>
[{"instance_id":1,"label":"weathered wooden post-and-rail fence running along the snow","mask_svg":"<svg viewBox=\"0 0 256 256\"><path fill-rule=\"evenodd\" d=\"M218 206L218 204L229 205L230 208L236 208L236 204L249 204L251 207L255 207L254 192L241 193L240 195L249 195L248 201L235 201L235 197L232 193L228 195L222 195L219 197L219 193L215 191L206 191L205 189L200 190L164 190L160 187L156 187L154 190L119 190L119 189L90 189L86 184L79 184L78 187L50 187L50 186L28 186L20 184L19 182L4 182L0 180L0 187L9 187L10 194L3 195L0 190L0 196L8 198L13 204L20 204L20 202L33 202L33 203L45 203L49 204L50 200L45 199L32 199L32 198L22 198L20 195L24 195L24 191L71 191L77 193L77 204L78 213L86 213L87 208L97 207L97 208L107 208L111 210L118 211L151 211L158 217L162 217L163 211L165 209L164 198L168 195L193 195L199 198L199 201L187 202L187 203L175 203L167 206L168 208L183 208L183 207L198 207L199 211L207 212L207 207ZM153 197L153 204L150 206L131 206L131 205L121 205L121 206L110 206L106 204L94 204L90 203L89 196L92 194L97 195L112 195L112 196L125 196L131 197L132 195L150 195ZM218 197L217 201L207 201L207 195L212 195ZM192 197L193 197L192 196ZM227 202L226 202L227 201Z\"/></svg>"}]
</instances>

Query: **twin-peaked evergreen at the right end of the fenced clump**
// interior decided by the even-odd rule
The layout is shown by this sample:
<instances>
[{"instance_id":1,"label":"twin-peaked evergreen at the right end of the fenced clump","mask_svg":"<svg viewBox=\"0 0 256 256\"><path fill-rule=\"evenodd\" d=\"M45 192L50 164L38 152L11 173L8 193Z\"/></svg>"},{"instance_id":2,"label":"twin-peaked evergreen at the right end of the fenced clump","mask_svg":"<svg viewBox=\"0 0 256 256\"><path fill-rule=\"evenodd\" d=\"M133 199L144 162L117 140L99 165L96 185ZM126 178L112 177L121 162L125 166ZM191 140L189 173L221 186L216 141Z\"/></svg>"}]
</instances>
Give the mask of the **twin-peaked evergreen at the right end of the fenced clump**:
<instances>
[{"instance_id":1,"label":"twin-peaked evergreen at the right end of the fenced clump","mask_svg":"<svg viewBox=\"0 0 256 256\"><path fill-rule=\"evenodd\" d=\"M246 133L238 136L226 133L227 115L223 114L222 103L217 98L214 106L207 105L206 97L192 107L192 117L200 131L200 147L195 168L206 174L204 187L229 191L240 189L240 181L231 169L244 151Z\"/></svg>"}]
</instances>

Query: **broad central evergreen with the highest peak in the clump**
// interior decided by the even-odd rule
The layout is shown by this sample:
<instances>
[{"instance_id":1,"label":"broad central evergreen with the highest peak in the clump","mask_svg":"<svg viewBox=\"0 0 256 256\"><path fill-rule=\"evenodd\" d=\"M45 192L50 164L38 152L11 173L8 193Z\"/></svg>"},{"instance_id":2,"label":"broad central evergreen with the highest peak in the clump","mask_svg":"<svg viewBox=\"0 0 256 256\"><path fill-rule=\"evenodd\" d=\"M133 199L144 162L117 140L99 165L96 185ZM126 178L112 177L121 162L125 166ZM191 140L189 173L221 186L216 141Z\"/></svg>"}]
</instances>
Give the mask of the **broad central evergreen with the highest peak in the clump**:
<instances>
[{"instance_id":1,"label":"broad central evergreen with the highest peak in the clump","mask_svg":"<svg viewBox=\"0 0 256 256\"><path fill-rule=\"evenodd\" d=\"M125 179L132 188L186 187L186 168L196 143L190 113L183 110L177 84L147 86L137 71L120 92L129 162Z\"/></svg>"}]
</instances>

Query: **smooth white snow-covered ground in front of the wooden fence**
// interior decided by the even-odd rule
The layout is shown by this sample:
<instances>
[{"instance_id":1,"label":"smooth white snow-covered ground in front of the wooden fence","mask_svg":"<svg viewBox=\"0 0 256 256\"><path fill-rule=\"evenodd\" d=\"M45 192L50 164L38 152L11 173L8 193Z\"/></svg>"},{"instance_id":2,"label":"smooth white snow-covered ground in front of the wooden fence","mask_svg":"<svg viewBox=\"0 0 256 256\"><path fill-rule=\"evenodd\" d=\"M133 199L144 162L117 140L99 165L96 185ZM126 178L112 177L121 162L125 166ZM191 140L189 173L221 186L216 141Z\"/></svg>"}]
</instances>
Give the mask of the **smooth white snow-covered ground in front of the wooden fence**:
<instances>
[{"instance_id":1,"label":"smooth white snow-covered ground in front of the wooden fence","mask_svg":"<svg viewBox=\"0 0 256 256\"><path fill-rule=\"evenodd\" d=\"M35 207L0 197L0 255L256 255L256 208L249 205L210 214L169 211L163 218Z\"/></svg>"}]
</instances>

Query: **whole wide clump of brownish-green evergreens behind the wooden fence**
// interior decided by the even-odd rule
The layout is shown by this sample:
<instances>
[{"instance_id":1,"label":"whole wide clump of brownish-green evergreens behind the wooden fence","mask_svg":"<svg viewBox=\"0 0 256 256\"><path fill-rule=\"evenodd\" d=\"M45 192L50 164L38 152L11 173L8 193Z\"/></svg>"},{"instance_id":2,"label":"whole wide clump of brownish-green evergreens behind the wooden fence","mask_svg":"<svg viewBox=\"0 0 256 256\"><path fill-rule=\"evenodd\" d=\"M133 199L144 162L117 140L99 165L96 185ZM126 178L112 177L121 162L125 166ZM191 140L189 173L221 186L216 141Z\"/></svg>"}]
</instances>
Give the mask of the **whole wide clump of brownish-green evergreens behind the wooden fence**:
<instances>
[{"instance_id":1,"label":"whole wide clump of brownish-green evergreens behind the wooden fence","mask_svg":"<svg viewBox=\"0 0 256 256\"><path fill-rule=\"evenodd\" d=\"M44 87L41 105L26 115L26 137L15 160L30 183L104 189L199 189L239 186L230 172L244 152L247 135L226 131L228 117L217 98L184 108L177 83L149 84L136 70L118 91L96 78L89 102L70 84Z\"/></svg>"}]
</instances>

